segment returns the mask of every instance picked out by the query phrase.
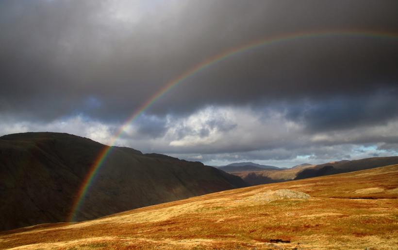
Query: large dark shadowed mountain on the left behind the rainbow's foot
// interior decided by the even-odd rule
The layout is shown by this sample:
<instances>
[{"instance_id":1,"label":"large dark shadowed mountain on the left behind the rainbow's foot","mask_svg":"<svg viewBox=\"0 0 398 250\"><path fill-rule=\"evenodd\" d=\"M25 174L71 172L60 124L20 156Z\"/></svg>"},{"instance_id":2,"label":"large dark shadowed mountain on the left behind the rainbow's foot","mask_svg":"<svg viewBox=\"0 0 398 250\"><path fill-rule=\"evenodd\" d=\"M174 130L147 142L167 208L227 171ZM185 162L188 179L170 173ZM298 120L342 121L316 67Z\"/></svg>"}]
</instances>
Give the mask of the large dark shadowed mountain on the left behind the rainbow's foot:
<instances>
[{"instance_id":1,"label":"large dark shadowed mountain on the left behind the rainbow's foot","mask_svg":"<svg viewBox=\"0 0 398 250\"><path fill-rule=\"evenodd\" d=\"M83 179L107 147L65 133L0 137L0 231L66 221ZM245 186L241 178L201 162L114 146L75 219Z\"/></svg>"}]
</instances>

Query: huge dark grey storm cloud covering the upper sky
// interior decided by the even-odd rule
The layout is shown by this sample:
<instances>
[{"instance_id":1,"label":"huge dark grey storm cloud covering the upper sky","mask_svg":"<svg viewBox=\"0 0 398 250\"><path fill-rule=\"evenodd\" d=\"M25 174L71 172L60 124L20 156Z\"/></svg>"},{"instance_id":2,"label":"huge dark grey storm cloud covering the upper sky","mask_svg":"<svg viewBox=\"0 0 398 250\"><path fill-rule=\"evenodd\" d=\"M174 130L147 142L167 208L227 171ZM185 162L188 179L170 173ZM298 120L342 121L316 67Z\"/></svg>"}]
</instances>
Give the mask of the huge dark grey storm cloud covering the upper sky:
<instances>
[{"instance_id":1,"label":"huge dark grey storm cloud covering the upper sky","mask_svg":"<svg viewBox=\"0 0 398 250\"><path fill-rule=\"evenodd\" d=\"M171 79L215 54L301 31L398 33L397 9L395 1L364 0L1 1L0 112L47 121L83 112L123 121ZM266 47L199 72L148 112L187 115L210 104L318 102L394 88L397 48L396 41L360 38ZM88 108L89 98L101 106ZM321 106L299 113L315 121L318 111L328 111ZM313 129L325 124L316 120Z\"/></svg>"}]
</instances>

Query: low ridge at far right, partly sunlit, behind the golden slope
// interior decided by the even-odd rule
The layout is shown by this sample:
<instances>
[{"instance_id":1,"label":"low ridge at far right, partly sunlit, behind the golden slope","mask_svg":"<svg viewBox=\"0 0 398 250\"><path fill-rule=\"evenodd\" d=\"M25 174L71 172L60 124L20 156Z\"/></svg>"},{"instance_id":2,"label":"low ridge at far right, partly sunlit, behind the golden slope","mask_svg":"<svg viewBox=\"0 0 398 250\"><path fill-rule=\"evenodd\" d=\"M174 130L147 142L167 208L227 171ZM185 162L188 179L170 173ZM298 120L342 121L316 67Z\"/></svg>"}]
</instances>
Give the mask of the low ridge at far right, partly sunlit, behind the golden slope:
<instances>
[{"instance_id":1,"label":"low ridge at far right, partly sunlit, behind the golden slope","mask_svg":"<svg viewBox=\"0 0 398 250\"><path fill-rule=\"evenodd\" d=\"M319 165L292 167L282 171L239 171L231 174L239 176L250 185L278 183L293 179L307 179L319 176L349 173L398 163L398 157L374 157L353 161L333 161ZM308 163L304 163L308 164ZM302 165L304 165L302 164ZM300 166L300 165L298 165ZM331 166L331 167L330 167ZM326 168L325 168L326 167Z\"/></svg>"}]
</instances>

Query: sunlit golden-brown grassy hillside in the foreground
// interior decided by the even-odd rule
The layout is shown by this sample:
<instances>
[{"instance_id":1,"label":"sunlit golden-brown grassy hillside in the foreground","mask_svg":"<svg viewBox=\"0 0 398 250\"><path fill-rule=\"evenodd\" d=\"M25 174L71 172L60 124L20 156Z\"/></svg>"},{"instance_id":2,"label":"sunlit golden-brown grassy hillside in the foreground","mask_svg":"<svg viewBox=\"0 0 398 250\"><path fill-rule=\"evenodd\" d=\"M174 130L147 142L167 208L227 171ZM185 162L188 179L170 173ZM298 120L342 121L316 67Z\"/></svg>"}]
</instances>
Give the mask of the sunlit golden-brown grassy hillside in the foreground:
<instances>
[{"instance_id":1,"label":"sunlit golden-brown grassy hillside in the foreground","mask_svg":"<svg viewBox=\"0 0 398 250\"><path fill-rule=\"evenodd\" d=\"M280 189L311 198L282 198ZM0 232L0 249L398 249L397 197L391 165Z\"/></svg>"}]
</instances>

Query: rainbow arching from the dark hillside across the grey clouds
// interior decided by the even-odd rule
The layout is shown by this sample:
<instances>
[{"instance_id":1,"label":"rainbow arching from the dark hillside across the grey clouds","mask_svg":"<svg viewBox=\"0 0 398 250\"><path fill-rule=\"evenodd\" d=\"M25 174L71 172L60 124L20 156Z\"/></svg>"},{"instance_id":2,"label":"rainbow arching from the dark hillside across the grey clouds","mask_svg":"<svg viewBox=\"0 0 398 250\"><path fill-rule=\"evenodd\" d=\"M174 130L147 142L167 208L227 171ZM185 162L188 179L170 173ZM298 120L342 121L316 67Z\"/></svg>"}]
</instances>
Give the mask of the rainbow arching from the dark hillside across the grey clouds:
<instances>
[{"instance_id":1,"label":"rainbow arching from the dark hillside across the grey clouds","mask_svg":"<svg viewBox=\"0 0 398 250\"><path fill-rule=\"evenodd\" d=\"M115 145L120 138L123 136L125 131L129 129L133 123L156 101L158 101L162 96L166 95L172 89L178 87L187 79L191 78L200 71L203 71L211 66L214 66L226 59L229 59L240 54L247 53L252 50L261 49L267 46L281 44L285 42L293 42L304 39L314 39L314 38L361 38L361 39L382 39L398 41L398 35L393 33L381 33L381 32L369 32L369 31L313 31L313 32L303 32L303 33L293 33L281 36L273 36L257 40L254 42L246 43L241 46L227 50L221 54L216 54L213 57L199 63L195 67L185 71L177 78L168 82L162 89L159 89L152 97L150 97L144 104L141 105L116 132L113 139L110 141L111 145ZM92 164L86 177L83 179L81 187L77 193L77 196L72 204L70 215L68 216L68 221L73 222L75 220L76 214L80 209L83 201L83 197L87 193L90 183L93 181L96 173L102 166L103 162L107 159L109 154L112 152L112 146L105 146L99 153L96 161Z\"/></svg>"}]
</instances>

